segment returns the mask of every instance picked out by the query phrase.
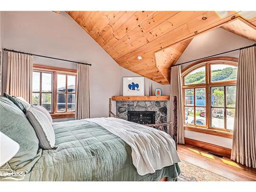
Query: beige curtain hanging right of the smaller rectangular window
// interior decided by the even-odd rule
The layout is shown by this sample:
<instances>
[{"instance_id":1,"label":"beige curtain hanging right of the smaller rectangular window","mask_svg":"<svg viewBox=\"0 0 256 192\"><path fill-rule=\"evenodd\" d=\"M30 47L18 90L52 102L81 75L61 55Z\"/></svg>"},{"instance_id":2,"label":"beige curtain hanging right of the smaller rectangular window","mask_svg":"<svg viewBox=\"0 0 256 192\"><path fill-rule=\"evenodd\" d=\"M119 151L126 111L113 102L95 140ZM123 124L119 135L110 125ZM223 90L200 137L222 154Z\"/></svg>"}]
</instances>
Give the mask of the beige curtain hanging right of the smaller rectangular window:
<instances>
[{"instance_id":1,"label":"beige curtain hanging right of the smaller rectangular window","mask_svg":"<svg viewBox=\"0 0 256 192\"><path fill-rule=\"evenodd\" d=\"M89 66L77 65L75 119L90 118Z\"/></svg>"}]
</instances>

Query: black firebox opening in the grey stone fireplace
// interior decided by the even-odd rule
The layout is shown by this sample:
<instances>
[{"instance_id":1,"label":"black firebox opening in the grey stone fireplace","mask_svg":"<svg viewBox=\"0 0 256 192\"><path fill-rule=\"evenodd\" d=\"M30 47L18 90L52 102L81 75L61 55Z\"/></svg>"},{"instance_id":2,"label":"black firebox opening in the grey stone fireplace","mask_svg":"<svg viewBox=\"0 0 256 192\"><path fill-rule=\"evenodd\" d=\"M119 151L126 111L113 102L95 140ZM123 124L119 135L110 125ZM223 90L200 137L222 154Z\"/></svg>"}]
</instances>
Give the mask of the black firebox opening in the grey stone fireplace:
<instances>
[{"instance_id":1,"label":"black firebox opening in the grey stone fireplace","mask_svg":"<svg viewBox=\"0 0 256 192\"><path fill-rule=\"evenodd\" d=\"M127 120L139 124L155 124L155 111L128 111Z\"/></svg>"}]
</instances>

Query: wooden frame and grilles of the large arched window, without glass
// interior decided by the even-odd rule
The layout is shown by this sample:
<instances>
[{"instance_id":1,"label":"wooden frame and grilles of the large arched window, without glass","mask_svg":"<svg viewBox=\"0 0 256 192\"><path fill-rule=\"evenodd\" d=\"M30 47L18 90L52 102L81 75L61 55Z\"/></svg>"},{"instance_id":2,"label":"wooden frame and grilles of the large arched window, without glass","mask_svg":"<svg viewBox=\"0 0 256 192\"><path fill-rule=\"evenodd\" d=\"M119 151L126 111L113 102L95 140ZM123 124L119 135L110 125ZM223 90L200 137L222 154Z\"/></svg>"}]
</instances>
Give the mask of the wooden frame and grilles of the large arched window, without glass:
<instances>
[{"instance_id":1,"label":"wooden frame and grilles of the large arched window, without glass","mask_svg":"<svg viewBox=\"0 0 256 192\"><path fill-rule=\"evenodd\" d=\"M201 125L196 125L196 124L185 124L184 123L184 129L189 130L189 131L194 131L194 132L199 132L199 133L204 133L204 134L209 134L209 135L215 135L215 136L220 136L220 137L226 137L226 138L232 138L233 135L233 130L227 130L227 129L221 129L217 127L211 127L210 125L210 114L211 114L211 100L210 100L210 91L211 87L224 87L224 102L226 101L226 87L228 86L236 86L237 80L227 80L227 81L219 81L219 82L211 82L211 66L212 65L217 65L223 63L224 65L230 65L234 67L238 67L238 59L234 57L211 57L207 59L203 59L200 61L197 61L195 63L192 63L188 67L182 70L182 93L183 93L183 117L185 121L185 89L194 89L194 105L191 106L194 108L194 123L196 123L196 103L195 103L195 90L196 88L205 88L205 98L206 98L206 125L201 126ZM188 75L190 72L201 68L205 66L205 83L200 83L200 84L189 84L185 85L185 77ZM198 106L199 107L199 106ZM201 106L200 106L201 107ZM204 108L204 106L202 106ZM224 109L224 127L226 127L226 109L227 108L226 104L224 103L223 106ZM234 109L234 108L231 108Z\"/></svg>"}]
</instances>

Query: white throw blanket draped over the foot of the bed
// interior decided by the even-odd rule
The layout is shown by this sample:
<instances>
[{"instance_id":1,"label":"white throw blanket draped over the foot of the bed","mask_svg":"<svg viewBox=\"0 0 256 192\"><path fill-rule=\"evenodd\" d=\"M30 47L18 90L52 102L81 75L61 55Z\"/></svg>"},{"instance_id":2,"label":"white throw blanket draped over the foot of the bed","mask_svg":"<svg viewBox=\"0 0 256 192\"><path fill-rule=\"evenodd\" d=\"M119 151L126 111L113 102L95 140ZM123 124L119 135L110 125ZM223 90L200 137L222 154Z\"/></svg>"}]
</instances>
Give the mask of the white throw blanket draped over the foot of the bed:
<instances>
[{"instance_id":1,"label":"white throw blanket draped over the foot of the bed","mask_svg":"<svg viewBox=\"0 0 256 192\"><path fill-rule=\"evenodd\" d=\"M163 131L113 117L85 120L104 127L130 145L133 164L141 176L180 162L175 141Z\"/></svg>"}]
</instances>

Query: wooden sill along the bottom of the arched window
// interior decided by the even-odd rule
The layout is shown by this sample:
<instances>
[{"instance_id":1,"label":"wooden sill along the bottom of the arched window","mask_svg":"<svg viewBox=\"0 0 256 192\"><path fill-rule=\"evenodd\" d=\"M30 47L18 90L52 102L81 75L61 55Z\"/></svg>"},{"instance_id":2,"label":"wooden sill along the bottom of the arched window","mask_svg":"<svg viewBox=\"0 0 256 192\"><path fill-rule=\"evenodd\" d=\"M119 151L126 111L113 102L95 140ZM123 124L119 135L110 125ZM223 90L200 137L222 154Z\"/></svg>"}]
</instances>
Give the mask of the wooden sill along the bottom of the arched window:
<instances>
[{"instance_id":1,"label":"wooden sill along the bottom of the arched window","mask_svg":"<svg viewBox=\"0 0 256 192\"><path fill-rule=\"evenodd\" d=\"M203 133L208 135L215 135L215 136L231 138L231 139L233 138L233 133L225 132L225 131L206 129L206 128L190 126L186 124L184 124L184 129L188 131L193 131L193 132L198 132L198 133Z\"/></svg>"}]
</instances>

